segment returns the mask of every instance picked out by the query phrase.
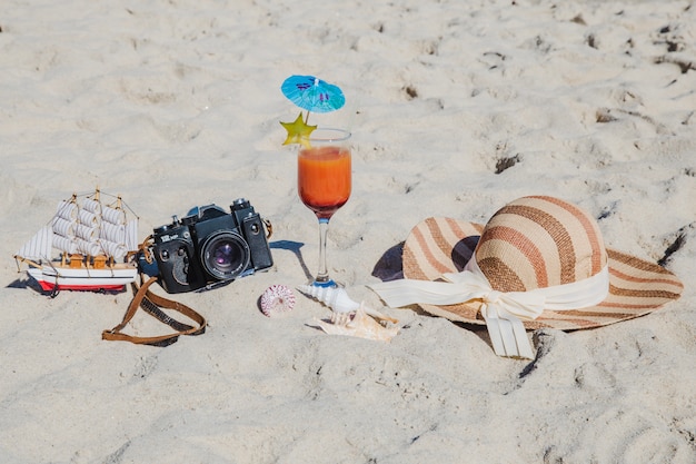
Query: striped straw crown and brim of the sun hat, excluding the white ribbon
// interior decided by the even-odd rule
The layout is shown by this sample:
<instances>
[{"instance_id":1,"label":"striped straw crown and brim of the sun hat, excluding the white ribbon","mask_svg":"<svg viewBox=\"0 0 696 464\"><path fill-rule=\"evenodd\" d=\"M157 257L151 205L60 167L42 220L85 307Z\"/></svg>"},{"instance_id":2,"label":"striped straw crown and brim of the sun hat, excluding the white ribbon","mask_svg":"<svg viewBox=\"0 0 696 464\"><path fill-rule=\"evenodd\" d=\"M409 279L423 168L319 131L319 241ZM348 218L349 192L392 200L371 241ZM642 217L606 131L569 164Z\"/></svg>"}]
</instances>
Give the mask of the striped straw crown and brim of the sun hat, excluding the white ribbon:
<instances>
[{"instance_id":1,"label":"striped straw crown and brim of the sun hat, excluding the white ribbon","mask_svg":"<svg viewBox=\"0 0 696 464\"><path fill-rule=\"evenodd\" d=\"M486 226L451 218L421 221L404 246L404 277L438 280L461 273L471 256L500 293L577 283L606 273L608 264L608 294L600 303L564 310L545 307L537 318L523 320L527 329L573 330L630 319L677 299L683 289L662 266L606 249L597 223L577 206L540 196L508 204ZM485 324L480 300L419 306L451 320Z\"/></svg>"}]
</instances>

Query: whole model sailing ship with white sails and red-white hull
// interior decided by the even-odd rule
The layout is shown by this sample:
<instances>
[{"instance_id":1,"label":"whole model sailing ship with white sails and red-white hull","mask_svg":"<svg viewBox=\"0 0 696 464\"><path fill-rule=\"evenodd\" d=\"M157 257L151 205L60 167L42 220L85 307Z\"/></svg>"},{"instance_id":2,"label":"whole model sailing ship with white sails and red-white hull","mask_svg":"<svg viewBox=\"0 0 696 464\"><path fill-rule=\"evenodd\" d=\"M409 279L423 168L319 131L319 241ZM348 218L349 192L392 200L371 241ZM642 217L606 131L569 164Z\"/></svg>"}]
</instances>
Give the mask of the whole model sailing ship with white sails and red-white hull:
<instances>
[{"instance_id":1,"label":"whole model sailing ship with white sails and red-white hull","mask_svg":"<svg viewBox=\"0 0 696 464\"><path fill-rule=\"evenodd\" d=\"M27 274L47 292L121 290L136 279L135 263L126 263L138 248L138 217L123 208L121 197L103 205L100 192L77 195L58 204L56 215L14 258L27 263ZM60 256L51 257L52 249Z\"/></svg>"}]
</instances>

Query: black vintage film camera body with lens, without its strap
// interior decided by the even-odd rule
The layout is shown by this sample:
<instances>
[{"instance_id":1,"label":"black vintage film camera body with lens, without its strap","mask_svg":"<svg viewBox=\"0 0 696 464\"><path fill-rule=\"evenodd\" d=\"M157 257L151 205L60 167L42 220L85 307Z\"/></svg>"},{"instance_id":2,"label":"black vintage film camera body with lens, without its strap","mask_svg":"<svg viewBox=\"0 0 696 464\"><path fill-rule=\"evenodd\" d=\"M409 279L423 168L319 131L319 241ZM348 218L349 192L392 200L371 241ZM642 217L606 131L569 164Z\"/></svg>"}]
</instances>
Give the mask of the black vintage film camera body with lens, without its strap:
<instances>
[{"instance_id":1,"label":"black vintage film camera body with lens, without its strap","mask_svg":"<svg viewBox=\"0 0 696 464\"><path fill-rule=\"evenodd\" d=\"M245 198L236 199L229 214L207 205L180 220L175 216L152 235L162 288L192 292L268 269L274 260L265 226Z\"/></svg>"}]
</instances>

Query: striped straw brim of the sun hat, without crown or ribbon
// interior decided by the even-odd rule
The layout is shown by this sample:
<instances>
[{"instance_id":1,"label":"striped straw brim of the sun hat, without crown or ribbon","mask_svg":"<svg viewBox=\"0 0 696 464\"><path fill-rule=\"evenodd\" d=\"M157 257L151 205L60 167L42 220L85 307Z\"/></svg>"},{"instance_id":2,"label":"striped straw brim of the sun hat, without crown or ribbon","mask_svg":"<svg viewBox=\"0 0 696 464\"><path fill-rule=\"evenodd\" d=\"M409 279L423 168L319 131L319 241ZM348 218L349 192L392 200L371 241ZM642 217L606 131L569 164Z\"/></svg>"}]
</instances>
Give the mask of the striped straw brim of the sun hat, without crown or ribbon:
<instances>
[{"instance_id":1,"label":"striped straw brim of the sun hat, without crown or ribbon","mask_svg":"<svg viewBox=\"0 0 696 464\"><path fill-rule=\"evenodd\" d=\"M438 280L444 273L458 273L474 255L484 230L480 224L453 218L428 218L414 227L404 244L404 277ZM596 306L574 310L545 310L524 322L527 329L551 327L577 330L633 319L679 298L683 284L669 270L644 259L607 248L609 295ZM436 316L485 325L478 302L419 306Z\"/></svg>"}]
</instances>

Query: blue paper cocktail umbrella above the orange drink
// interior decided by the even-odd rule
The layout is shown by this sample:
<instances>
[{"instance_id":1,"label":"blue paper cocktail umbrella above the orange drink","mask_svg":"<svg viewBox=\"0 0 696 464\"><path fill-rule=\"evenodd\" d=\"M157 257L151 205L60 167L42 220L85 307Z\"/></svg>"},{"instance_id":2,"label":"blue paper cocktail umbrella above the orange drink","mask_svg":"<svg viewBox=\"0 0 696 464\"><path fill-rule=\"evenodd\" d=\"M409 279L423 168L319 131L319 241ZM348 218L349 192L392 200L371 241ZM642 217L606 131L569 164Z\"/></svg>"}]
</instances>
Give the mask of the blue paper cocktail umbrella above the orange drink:
<instances>
[{"instance_id":1,"label":"blue paper cocktail umbrella above the orange drink","mask_svg":"<svg viewBox=\"0 0 696 464\"><path fill-rule=\"evenodd\" d=\"M337 86L314 76L290 76L280 90L290 101L308 111L336 111L346 103L346 97Z\"/></svg>"}]
</instances>

